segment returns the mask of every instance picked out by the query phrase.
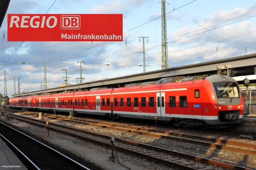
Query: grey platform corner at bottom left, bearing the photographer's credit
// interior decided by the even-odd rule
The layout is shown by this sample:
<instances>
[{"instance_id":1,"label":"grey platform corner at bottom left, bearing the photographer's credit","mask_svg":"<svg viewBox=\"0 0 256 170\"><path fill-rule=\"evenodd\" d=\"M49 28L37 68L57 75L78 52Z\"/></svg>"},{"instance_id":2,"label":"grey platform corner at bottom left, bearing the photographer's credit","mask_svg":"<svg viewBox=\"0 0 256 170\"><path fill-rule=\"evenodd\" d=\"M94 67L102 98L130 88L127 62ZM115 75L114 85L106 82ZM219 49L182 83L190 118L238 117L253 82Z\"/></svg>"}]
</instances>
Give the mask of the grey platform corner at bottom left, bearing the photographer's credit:
<instances>
[{"instance_id":1,"label":"grey platform corner at bottom left, bearing the photographer's credit","mask_svg":"<svg viewBox=\"0 0 256 170\"><path fill-rule=\"evenodd\" d=\"M27 170L20 159L0 138L0 170Z\"/></svg>"}]
</instances>

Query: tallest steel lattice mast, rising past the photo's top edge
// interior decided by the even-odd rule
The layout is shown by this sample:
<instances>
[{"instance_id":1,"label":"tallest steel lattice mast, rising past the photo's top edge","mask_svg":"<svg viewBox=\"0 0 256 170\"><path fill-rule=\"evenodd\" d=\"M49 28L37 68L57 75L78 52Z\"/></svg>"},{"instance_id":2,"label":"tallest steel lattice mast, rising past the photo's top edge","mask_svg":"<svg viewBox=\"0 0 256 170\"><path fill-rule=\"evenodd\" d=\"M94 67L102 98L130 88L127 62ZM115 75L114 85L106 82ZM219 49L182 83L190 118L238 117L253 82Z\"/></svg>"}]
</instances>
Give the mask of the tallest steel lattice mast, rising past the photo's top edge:
<instances>
[{"instance_id":1,"label":"tallest steel lattice mast, rising past the photo's top edge","mask_svg":"<svg viewBox=\"0 0 256 170\"><path fill-rule=\"evenodd\" d=\"M168 67L166 1L162 0L162 69L166 69Z\"/></svg>"}]
</instances>

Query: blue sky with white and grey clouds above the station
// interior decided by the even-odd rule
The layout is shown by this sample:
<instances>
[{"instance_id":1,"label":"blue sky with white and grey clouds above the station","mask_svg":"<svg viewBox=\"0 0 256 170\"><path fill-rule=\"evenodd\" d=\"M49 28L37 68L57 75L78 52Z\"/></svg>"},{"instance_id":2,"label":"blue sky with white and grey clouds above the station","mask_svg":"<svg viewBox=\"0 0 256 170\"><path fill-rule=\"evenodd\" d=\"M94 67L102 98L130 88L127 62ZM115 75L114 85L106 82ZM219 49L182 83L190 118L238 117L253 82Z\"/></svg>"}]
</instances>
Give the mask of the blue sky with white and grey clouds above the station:
<instances>
[{"instance_id":1,"label":"blue sky with white and grey clouds above the station","mask_svg":"<svg viewBox=\"0 0 256 170\"><path fill-rule=\"evenodd\" d=\"M122 42L7 41L7 14L122 14ZM255 0L166 0L169 68L256 52ZM160 0L11 0L0 28L0 93L10 97L162 69ZM21 33L22 34L22 33ZM29 36L29 35L27 35ZM25 63L25 64L22 64ZM64 70L62 70L64 69ZM14 83L15 79L15 83Z\"/></svg>"}]
</instances>

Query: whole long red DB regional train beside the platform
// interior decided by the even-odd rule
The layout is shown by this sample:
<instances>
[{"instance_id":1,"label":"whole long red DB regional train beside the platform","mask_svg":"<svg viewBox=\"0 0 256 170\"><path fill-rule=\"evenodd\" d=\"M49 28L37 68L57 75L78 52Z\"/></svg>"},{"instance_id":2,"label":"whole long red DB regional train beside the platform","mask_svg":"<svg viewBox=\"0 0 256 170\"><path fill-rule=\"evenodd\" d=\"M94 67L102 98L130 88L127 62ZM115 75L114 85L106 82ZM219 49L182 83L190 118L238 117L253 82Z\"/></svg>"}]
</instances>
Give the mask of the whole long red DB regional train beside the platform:
<instances>
[{"instance_id":1,"label":"whole long red DB regional train beside the platform","mask_svg":"<svg viewBox=\"0 0 256 170\"><path fill-rule=\"evenodd\" d=\"M9 106L111 118L157 119L184 127L220 128L241 123L244 101L233 78L211 75L200 80L178 80L172 77L121 88L10 98Z\"/></svg>"}]
</instances>

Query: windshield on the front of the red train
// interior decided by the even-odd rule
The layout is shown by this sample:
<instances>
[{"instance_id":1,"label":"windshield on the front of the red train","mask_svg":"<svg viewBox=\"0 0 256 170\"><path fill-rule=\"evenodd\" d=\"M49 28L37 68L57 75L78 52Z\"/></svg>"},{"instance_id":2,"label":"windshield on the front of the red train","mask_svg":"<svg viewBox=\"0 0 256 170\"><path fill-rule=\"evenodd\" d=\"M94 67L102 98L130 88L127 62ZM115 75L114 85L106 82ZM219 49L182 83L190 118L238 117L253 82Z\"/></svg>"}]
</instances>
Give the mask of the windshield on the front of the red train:
<instances>
[{"instance_id":1,"label":"windshield on the front of the red train","mask_svg":"<svg viewBox=\"0 0 256 170\"><path fill-rule=\"evenodd\" d=\"M239 98L239 88L234 82L217 82L212 83L217 98Z\"/></svg>"}]
</instances>

